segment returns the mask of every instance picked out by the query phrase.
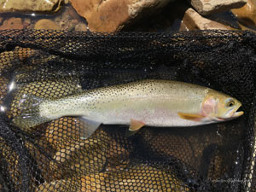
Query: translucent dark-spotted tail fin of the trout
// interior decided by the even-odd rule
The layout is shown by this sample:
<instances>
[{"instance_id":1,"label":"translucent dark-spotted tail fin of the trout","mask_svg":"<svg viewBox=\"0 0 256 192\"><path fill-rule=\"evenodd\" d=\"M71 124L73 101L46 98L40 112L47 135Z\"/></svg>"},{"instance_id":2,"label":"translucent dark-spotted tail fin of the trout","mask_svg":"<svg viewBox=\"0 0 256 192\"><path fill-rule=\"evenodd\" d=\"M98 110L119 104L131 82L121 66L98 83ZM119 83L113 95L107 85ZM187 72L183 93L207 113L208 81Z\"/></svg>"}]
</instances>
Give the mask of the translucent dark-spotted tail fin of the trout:
<instances>
[{"instance_id":1,"label":"translucent dark-spotted tail fin of the trout","mask_svg":"<svg viewBox=\"0 0 256 192\"><path fill-rule=\"evenodd\" d=\"M18 109L20 110L20 115L15 116L12 119L12 123L23 129L33 127L36 125L48 122L51 119L42 117L39 113L39 106L45 99L24 94L21 96Z\"/></svg>"}]
</instances>

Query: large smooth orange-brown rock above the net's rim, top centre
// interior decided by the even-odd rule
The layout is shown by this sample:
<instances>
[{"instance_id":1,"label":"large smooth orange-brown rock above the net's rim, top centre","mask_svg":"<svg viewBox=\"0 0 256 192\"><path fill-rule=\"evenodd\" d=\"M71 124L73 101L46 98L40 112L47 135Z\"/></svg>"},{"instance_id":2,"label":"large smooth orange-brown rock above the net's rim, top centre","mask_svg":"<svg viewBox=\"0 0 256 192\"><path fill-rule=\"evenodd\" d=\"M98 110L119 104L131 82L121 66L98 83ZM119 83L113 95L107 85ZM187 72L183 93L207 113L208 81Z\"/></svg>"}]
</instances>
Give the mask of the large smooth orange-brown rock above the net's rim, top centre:
<instances>
[{"instance_id":1,"label":"large smooth orange-brown rock above the net's rim, top centre","mask_svg":"<svg viewBox=\"0 0 256 192\"><path fill-rule=\"evenodd\" d=\"M173 0L70 0L88 21L90 31L115 32L143 15L151 15Z\"/></svg>"}]
</instances>

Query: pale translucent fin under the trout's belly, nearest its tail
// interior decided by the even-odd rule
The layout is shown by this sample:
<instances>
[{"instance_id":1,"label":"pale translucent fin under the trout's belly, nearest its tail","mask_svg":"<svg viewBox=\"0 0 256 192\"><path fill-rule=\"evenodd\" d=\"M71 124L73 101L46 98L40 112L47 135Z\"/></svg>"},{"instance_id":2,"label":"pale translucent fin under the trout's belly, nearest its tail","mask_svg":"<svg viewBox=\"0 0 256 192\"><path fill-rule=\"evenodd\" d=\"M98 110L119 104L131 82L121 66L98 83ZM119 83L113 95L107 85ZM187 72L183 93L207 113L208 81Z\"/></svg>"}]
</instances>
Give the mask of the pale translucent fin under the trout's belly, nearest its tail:
<instances>
[{"instance_id":1,"label":"pale translucent fin under the trout's belly, nearest its tail","mask_svg":"<svg viewBox=\"0 0 256 192\"><path fill-rule=\"evenodd\" d=\"M90 119L86 119L84 117L82 117L82 119L84 120L84 129L80 131L81 133L81 139L87 139L88 137L90 137L95 131L96 129L102 124L101 122L97 122L94 120L90 120Z\"/></svg>"}]
</instances>

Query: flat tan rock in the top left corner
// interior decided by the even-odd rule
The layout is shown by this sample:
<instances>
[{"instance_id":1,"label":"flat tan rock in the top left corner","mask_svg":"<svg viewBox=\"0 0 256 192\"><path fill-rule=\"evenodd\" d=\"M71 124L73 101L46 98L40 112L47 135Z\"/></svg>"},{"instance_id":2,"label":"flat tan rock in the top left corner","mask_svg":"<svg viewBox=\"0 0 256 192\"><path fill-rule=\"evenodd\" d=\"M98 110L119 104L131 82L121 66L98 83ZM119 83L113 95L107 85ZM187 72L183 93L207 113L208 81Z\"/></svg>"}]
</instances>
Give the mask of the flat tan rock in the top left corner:
<instances>
[{"instance_id":1,"label":"flat tan rock in the top left corner","mask_svg":"<svg viewBox=\"0 0 256 192\"><path fill-rule=\"evenodd\" d=\"M63 0L0 0L0 12L56 12Z\"/></svg>"}]
</instances>

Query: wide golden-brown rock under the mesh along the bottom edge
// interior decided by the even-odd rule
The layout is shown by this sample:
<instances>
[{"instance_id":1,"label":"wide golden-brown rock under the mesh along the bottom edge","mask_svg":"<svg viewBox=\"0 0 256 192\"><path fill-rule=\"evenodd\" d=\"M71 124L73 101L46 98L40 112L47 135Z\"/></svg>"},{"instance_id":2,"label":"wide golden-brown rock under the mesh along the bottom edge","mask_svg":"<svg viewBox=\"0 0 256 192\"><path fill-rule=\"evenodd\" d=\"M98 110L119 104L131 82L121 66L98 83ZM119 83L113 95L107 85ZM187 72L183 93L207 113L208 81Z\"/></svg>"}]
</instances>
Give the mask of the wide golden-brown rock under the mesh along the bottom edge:
<instances>
[{"instance_id":1,"label":"wide golden-brown rock under the mesh along the bottom edge","mask_svg":"<svg viewBox=\"0 0 256 192\"><path fill-rule=\"evenodd\" d=\"M189 191L181 180L152 166L138 165L121 172L100 172L58 179L38 186L43 192L92 191Z\"/></svg>"}]
</instances>

